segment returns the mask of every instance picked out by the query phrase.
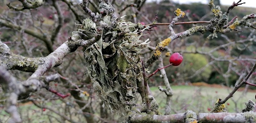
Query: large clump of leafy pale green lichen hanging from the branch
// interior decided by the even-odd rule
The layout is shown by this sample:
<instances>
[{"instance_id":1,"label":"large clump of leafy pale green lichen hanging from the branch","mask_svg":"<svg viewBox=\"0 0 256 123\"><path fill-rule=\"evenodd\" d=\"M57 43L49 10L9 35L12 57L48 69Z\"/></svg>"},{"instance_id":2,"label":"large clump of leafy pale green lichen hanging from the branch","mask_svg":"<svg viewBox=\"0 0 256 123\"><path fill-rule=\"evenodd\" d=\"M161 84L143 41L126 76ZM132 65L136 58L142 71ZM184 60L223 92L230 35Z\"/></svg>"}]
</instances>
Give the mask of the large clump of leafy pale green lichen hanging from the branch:
<instances>
[{"instance_id":1,"label":"large clump of leafy pale green lichen hanging from the branch","mask_svg":"<svg viewBox=\"0 0 256 123\"><path fill-rule=\"evenodd\" d=\"M92 22L85 20L82 25L90 28L78 25L77 30L83 33L87 33L85 28L94 30ZM108 23L107 20L104 19L103 23ZM104 37L84 51L94 92L104 101L104 106L119 113L130 109L127 102L136 97L136 83L143 80L140 51L148 40L141 42L142 33L133 25L136 24L117 21L113 30L103 30Z\"/></svg>"}]
</instances>

